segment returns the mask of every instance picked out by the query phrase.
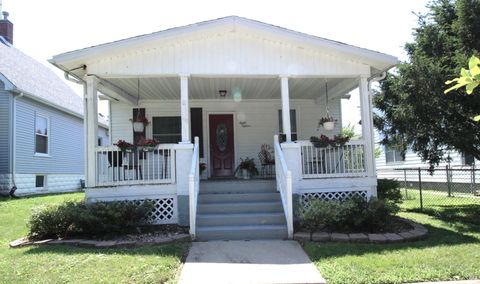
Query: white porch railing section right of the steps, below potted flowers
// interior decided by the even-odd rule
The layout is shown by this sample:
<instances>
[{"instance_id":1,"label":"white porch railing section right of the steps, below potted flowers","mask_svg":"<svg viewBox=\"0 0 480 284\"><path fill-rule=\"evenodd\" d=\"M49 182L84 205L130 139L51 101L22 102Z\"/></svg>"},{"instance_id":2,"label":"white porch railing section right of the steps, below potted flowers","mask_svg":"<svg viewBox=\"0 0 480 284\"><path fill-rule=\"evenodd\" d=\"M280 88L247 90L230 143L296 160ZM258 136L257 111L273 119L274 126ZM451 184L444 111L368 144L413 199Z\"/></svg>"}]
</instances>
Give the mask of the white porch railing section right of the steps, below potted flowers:
<instances>
[{"instance_id":1,"label":"white porch railing section right of the steps, below potted flowers","mask_svg":"<svg viewBox=\"0 0 480 284\"><path fill-rule=\"evenodd\" d=\"M338 147L316 148L310 141L297 141L301 148L303 178L363 177L365 145L362 140Z\"/></svg>"}]
</instances>

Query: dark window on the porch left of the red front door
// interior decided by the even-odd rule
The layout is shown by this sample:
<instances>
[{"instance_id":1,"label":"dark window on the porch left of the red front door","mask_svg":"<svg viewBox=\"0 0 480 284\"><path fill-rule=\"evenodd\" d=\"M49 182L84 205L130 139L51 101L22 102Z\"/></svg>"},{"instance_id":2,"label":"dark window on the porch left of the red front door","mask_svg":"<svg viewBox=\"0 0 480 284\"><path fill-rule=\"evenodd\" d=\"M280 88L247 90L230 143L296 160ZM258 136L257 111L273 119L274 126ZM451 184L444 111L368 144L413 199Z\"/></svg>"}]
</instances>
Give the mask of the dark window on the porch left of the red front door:
<instances>
[{"instance_id":1,"label":"dark window on the porch left of the red front door","mask_svg":"<svg viewBox=\"0 0 480 284\"><path fill-rule=\"evenodd\" d=\"M152 119L153 139L160 143L178 143L182 139L180 116L154 117Z\"/></svg>"}]
</instances>

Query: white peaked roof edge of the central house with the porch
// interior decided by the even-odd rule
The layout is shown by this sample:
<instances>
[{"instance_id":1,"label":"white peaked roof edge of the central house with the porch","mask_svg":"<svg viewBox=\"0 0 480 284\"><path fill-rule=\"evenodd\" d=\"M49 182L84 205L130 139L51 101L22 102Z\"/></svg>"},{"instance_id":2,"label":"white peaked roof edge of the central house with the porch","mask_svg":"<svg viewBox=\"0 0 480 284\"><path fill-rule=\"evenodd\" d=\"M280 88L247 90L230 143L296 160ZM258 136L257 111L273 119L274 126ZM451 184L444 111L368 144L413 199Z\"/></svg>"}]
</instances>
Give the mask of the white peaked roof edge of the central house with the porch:
<instances>
[{"instance_id":1,"label":"white peaked roof edge of the central house with the porch","mask_svg":"<svg viewBox=\"0 0 480 284\"><path fill-rule=\"evenodd\" d=\"M280 37L283 40L304 43L313 47L322 48L327 51L348 55L354 60L369 65L378 71L386 71L398 63L398 59L396 57L388 54L348 45L342 42L333 41L317 36L308 35L301 32L296 32L286 28L238 16L228 16L224 18L171 28L150 34L140 35L110 43L78 49L56 55L49 61L57 67L63 69L64 71L69 71L68 67L72 67L72 64L74 62L78 64L81 62L85 62L91 58L101 57L121 49L140 47L150 41L173 39L182 35L205 31L208 29L222 26L231 26L232 28L242 27L247 29L254 29L257 31L265 32L267 34L271 34L273 36Z\"/></svg>"}]
</instances>

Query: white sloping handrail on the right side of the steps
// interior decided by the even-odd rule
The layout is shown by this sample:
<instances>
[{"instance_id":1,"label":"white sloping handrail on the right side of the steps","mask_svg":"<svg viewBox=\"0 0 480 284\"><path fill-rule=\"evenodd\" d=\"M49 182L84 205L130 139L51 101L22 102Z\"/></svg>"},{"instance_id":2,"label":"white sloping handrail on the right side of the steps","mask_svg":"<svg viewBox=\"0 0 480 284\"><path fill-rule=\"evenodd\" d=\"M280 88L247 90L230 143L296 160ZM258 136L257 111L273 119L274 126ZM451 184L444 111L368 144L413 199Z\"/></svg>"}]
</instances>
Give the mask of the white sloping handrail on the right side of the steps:
<instances>
[{"instance_id":1,"label":"white sloping handrail on the right side of the steps","mask_svg":"<svg viewBox=\"0 0 480 284\"><path fill-rule=\"evenodd\" d=\"M292 172L288 170L285 156L283 154L278 135L274 136L275 148L275 173L277 179L277 190L282 198L283 211L287 220L288 238L293 238L293 205L292 205Z\"/></svg>"}]
</instances>

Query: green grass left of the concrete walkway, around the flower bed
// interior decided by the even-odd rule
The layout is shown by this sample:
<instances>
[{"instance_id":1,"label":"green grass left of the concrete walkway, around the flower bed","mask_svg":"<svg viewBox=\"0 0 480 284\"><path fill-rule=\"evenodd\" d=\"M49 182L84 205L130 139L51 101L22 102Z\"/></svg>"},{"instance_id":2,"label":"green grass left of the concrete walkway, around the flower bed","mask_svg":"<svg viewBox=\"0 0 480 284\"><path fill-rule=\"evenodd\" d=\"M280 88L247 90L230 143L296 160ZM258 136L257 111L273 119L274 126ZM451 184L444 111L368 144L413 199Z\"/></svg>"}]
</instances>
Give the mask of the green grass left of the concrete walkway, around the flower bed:
<instances>
[{"instance_id":1,"label":"green grass left of the concrete walkway, around the flower bed","mask_svg":"<svg viewBox=\"0 0 480 284\"><path fill-rule=\"evenodd\" d=\"M175 283L188 244L135 249L32 246L10 249L27 234L32 208L82 193L0 198L0 283Z\"/></svg>"}]
</instances>

